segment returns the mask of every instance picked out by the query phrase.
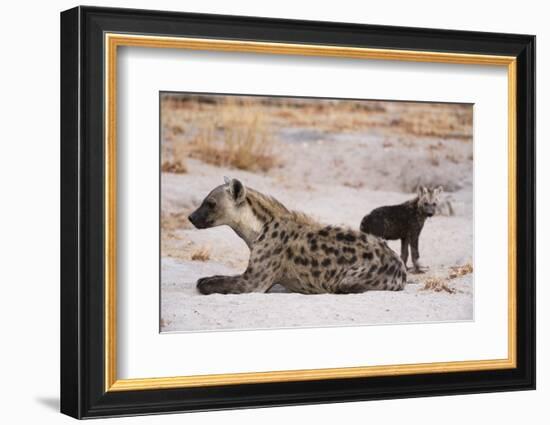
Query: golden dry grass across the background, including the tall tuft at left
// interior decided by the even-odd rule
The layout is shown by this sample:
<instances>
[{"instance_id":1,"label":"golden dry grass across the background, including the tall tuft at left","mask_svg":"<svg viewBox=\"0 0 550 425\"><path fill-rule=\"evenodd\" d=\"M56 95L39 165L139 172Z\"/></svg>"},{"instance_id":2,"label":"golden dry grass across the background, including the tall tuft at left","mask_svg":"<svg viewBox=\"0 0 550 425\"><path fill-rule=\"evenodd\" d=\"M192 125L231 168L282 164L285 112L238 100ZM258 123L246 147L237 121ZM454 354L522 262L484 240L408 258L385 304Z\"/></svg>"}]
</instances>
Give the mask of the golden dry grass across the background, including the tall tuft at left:
<instances>
[{"instance_id":1,"label":"golden dry grass across the background, including the tall tuft at left","mask_svg":"<svg viewBox=\"0 0 550 425\"><path fill-rule=\"evenodd\" d=\"M390 131L383 147L427 148L428 164L471 161L449 154L444 138L471 140L469 105L251 96L163 95L162 170L187 172L189 157L220 167L265 172L283 166L281 130L323 134ZM299 132L298 132L299 134ZM286 140L286 139L285 139ZM447 154L447 156L446 156Z\"/></svg>"}]
</instances>

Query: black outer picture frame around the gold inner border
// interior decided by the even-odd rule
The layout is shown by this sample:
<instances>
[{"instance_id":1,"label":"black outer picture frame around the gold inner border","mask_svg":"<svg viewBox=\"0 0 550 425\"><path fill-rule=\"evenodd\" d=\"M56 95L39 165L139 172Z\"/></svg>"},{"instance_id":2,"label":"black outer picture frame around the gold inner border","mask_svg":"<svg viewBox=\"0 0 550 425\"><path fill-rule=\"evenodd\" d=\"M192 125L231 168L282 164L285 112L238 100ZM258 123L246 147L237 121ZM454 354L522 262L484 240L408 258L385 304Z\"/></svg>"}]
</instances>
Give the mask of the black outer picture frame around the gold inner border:
<instances>
[{"instance_id":1,"label":"black outer picture frame around the gold inner border","mask_svg":"<svg viewBox=\"0 0 550 425\"><path fill-rule=\"evenodd\" d=\"M105 391L104 33L507 55L517 58L517 367ZM75 418L535 388L535 37L76 7L61 13L61 412Z\"/></svg>"}]
</instances>

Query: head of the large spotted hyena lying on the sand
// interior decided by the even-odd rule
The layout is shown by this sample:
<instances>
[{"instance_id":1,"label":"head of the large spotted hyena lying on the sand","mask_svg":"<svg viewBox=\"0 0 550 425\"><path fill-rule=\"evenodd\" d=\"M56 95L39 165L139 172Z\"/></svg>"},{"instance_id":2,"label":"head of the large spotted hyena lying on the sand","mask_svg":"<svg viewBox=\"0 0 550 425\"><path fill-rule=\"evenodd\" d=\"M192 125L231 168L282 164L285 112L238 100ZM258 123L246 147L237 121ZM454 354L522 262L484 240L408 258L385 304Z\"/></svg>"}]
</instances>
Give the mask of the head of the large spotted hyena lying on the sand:
<instances>
[{"instance_id":1,"label":"head of the large spotted hyena lying on the sand","mask_svg":"<svg viewBox=\"0 0 550 425\"><path fill-rule=\"evenodd\" d=\"M246 187L237 179L224 177L225 184L216 187L188 217L197 229L228 225L235 227L248 216Z\"/></svg>"}]
</instances>

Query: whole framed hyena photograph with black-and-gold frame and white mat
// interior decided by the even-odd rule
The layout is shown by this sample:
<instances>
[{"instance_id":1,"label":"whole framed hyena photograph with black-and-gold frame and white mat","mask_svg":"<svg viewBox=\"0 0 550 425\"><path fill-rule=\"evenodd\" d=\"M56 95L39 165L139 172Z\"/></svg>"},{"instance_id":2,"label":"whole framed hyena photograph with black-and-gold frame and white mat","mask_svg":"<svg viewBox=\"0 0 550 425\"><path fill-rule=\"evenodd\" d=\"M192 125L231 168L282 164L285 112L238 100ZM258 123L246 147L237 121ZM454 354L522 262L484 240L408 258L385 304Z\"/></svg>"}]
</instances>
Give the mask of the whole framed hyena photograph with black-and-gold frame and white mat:
<instances>
[{"instance_id":1,"label":"whole framed hyena photograph with black-and-gold frame and white mat","mask_svg":"<svg viewBox=\"0 0 550 425\"><path fill-rule=\"evenodd\" d=\"M61 411L535 388L535 37L61 14Z\"/></svg>"}]
</instances>

